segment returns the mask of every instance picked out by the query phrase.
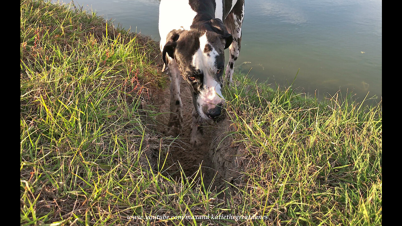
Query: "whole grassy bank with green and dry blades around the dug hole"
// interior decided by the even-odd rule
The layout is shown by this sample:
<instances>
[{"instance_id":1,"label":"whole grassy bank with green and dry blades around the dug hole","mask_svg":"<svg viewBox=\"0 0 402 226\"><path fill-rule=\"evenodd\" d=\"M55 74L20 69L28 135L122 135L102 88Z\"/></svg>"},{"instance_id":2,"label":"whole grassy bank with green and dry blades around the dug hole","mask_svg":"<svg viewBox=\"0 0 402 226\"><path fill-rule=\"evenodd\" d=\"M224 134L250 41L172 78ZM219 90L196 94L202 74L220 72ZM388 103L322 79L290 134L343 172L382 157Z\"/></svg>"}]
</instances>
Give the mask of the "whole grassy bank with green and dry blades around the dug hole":
<instances>
[{"instance_id":1,"label":"whole grassy bank with green and dry blades around the dug hole","mask_svg":"<svg viewBox=\"0 0 402 226\"><path fill-rule=\"evenodd\" d=\"M225 135L247 164L230 194L162 174L174 139L145 104L166 87L156 43L31 0L20 35L21 225L381 225L381 103L316 103L237 75Z\"/></svg>"}]
</instances>

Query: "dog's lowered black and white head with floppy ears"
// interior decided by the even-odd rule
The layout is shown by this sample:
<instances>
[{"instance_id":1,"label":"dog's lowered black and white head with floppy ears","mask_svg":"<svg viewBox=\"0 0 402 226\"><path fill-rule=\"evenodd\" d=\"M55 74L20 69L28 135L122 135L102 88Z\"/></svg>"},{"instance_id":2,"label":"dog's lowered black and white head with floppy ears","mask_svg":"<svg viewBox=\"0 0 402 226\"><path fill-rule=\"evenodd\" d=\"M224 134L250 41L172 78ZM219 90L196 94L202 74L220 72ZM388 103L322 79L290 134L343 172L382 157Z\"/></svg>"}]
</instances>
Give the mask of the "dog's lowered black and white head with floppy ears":
<instances>
[{"instance_id":1,"label":"dog's lowered black and white head with floppy ears","mask_svg":"<svg viewBox=\"0 0 402 226\"><path fill-rule=\"evenodd\" d=\"M194 24L190 30L173 30L166 37L162 60L167 65L166 53L176 60L180 74L193 91L195 109L203 119L217 119L224 108L224 49L231 43L232 35L217 18Z\"/></svg>"}]
</instances>

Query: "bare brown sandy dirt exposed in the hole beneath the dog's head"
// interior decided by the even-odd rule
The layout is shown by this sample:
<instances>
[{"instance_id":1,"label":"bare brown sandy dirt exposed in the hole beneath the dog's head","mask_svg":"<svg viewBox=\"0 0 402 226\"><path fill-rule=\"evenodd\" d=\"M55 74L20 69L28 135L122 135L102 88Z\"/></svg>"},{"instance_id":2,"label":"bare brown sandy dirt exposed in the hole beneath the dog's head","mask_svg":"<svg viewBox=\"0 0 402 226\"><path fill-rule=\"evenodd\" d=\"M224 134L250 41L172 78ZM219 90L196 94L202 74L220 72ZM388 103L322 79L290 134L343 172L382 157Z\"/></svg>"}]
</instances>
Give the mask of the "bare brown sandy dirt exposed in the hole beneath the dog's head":
<instances>
[{"instance_id":1,"label":"bare brown sandy dirt exposed in the hole beneath the dog's head","mask_svg":"<svg viewBox=\"0 0 402 226\"><path fill-rule=\"evenodd\" d=\"M183 79L180 85L180 97L183 103L183 131L178 136L175 144L169 148L168 165L170 167L166 173L175 177L180 177L179 163L187 177L193 177L199 170L203 174L203 181L214 186L224 185L224 181L235 183L241 175L242 161L240 154L244 147L232 144L233 138L230 135L231 122L222 119L219 122L205 124L203 127L202 144L193 148L190 142L193 98L189 84ZM156 117L158 125L154 130L160 134L165 131L169 121L170 111L170 82L163 90L155 90L147 101L147 105L157 106L154 111L162 114ZM166 136L166 135L164 135ZM167 168L165 166L165 168ZM213 178L215 179L213 180Z\"/></svg>"}]
</instances>

